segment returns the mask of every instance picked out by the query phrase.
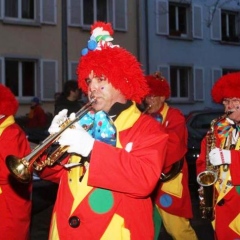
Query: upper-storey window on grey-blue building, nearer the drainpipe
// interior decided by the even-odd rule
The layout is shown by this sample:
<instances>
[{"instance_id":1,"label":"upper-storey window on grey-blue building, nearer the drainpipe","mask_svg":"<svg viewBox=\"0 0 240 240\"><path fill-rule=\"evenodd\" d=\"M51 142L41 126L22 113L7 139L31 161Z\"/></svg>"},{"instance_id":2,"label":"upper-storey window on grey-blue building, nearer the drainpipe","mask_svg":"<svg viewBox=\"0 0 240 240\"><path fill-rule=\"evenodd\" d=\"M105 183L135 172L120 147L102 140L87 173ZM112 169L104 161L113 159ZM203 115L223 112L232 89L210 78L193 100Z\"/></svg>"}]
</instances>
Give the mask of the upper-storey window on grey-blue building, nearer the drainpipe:
<instances>
[{"instance_id":1,"label":"upper-storey window on grey-blue building, nearer the drainpipe","mask_svg":"<svg viewBox=\"0 0 240 240\"><path fill-rule=\"evenodd\" d=\"M189 35L190 5L169 3L169 35Z\"/></svg>"}]
</instances>

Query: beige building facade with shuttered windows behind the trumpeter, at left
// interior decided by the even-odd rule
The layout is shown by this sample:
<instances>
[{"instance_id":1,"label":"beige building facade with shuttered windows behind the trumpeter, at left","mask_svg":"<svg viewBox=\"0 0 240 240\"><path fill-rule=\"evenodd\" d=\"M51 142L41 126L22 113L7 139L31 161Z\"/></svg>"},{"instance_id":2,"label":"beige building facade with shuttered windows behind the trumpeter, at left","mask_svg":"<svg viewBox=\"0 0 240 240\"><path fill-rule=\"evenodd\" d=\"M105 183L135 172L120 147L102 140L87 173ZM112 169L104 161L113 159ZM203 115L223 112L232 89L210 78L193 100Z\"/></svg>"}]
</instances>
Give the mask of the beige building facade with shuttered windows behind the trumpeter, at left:
<instances>
[{"instance_id":1,"label":"beige building facade with shuttered windows behind the trumpeter, at left","mask_svg":"<svg viewBox=\"0 0 240 240\"><path fill-rule=\"evenodd\" d=\"M114 43L137 55L137 0L0 0L0 83L19 100L18 114L33 96L53 111L97 20L111 22Z\"/></svg>"}]
</instances>

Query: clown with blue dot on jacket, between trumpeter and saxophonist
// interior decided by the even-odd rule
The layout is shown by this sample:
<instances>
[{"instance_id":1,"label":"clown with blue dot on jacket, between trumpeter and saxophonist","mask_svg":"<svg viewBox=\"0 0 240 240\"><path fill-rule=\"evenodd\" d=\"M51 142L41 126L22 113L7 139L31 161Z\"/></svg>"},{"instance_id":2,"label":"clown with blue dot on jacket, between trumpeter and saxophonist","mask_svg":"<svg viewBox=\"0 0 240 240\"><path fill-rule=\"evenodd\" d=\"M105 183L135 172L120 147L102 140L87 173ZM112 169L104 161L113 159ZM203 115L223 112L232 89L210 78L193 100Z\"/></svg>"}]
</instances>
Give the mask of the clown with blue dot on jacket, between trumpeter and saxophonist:
<instances>
[{"instance_id":1,"label":"clown with blue dot on jacket, between trumpeter and saxophonist","mask_svg":"<svg viewBox=\"0 0 240 240\"><path fill-rule=\"evenodd\" d=\"M161 229L161 219L173 239L194 240L197 236L190 225L191 198L188 190L187 128L183 114L169 107L166 100L170 87L160 73L145 77L150 88L145 98L147 113L162 124L169 134L168 151L161 180L153 194L155 203L155 239Z\"/></svg>"}]
</instances>

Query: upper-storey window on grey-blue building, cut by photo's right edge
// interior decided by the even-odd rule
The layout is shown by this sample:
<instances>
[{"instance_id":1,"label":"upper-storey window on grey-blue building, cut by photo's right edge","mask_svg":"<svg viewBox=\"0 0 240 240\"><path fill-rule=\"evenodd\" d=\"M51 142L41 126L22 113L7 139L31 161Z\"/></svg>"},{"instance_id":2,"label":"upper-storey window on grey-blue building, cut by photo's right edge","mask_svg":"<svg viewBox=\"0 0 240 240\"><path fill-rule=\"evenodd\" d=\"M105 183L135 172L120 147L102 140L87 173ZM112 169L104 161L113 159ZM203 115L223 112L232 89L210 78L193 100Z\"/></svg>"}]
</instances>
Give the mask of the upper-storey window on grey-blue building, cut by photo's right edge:
<instances>
[{"instance_id":1,"label":"upper-storey window on grey-blue building, cut by photo's right edge","mask_svg":"<svg viewBox=\"0 0 240 240\"><path fill-rule=\"evenodd\" d=\"M239 42L237 33L238 14L234 12L222 11L222 41Z\"/></svg>"}]
</instances>

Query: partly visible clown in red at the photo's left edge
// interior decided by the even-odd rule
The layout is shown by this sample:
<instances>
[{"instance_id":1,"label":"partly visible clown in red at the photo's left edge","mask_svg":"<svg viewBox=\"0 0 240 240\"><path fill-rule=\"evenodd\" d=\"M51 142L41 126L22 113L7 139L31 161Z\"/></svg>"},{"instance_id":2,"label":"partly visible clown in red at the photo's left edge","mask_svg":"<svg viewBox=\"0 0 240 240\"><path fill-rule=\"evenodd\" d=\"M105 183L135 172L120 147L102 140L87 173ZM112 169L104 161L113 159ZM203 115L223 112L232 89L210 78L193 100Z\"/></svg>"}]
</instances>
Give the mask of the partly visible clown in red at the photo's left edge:
<instances>
[{"instance_id":1,"label":"partly visible clown in red at the photo's left edge","mask_svg":"<svg viewBox=\"0 0 240 240\"><path fill-rule=\"evenodd\" d=\"M15 123L18 102L9 88L0 84L0 235L1 239L29 239L32 184L15 180L7 169L8 155L26 156L30 146Z\"/></svg>"}]
</instances>

